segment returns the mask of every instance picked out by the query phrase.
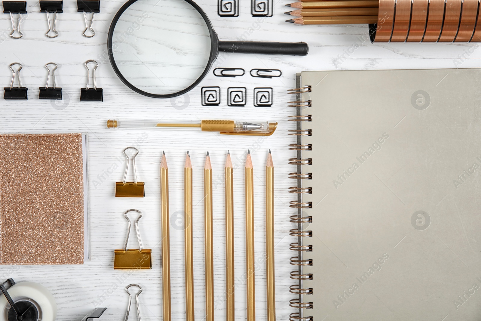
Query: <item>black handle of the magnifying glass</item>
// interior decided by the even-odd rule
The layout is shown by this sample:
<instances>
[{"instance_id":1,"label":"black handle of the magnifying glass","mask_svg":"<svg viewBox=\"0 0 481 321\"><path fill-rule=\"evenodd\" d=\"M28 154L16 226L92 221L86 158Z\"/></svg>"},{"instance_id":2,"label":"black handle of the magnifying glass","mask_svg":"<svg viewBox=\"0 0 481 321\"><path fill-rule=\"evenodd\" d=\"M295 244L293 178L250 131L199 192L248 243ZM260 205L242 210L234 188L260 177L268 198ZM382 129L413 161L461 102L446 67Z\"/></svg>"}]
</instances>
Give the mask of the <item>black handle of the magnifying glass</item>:
<instances>
[{"instance_id":1,"label":"black handle of the magnifying glass","mask_svg":"<svg viewBox=\"0 0 481 321\"><path fill-rule=\"evenodd\" d=\"M309 46L305 42L219 41L219 51L305 56Z\"/></svg>"}]
</instances>

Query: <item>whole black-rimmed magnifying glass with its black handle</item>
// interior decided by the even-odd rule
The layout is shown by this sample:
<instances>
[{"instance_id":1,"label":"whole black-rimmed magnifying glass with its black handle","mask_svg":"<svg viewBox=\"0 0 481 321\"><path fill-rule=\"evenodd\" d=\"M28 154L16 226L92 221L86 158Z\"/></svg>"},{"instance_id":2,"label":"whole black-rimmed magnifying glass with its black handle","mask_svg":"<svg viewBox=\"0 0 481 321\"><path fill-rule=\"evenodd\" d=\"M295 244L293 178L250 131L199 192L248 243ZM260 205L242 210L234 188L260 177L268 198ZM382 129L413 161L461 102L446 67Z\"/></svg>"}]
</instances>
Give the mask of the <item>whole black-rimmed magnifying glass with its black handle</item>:
<instances>
[{"instance_id":1,"label":"whole black-rimmed magnifying glass with its black handle","mask_svg":"<svg viewBox=\"0 0 481 321\"><path fill-rule=\"evenodd\" d=\"M192 0L129 0L115 14L107 46L117 76L155 98L197 86L219 51L305 56L309 50L304 42L219 41Z\"/></svg>"}]
</instances>

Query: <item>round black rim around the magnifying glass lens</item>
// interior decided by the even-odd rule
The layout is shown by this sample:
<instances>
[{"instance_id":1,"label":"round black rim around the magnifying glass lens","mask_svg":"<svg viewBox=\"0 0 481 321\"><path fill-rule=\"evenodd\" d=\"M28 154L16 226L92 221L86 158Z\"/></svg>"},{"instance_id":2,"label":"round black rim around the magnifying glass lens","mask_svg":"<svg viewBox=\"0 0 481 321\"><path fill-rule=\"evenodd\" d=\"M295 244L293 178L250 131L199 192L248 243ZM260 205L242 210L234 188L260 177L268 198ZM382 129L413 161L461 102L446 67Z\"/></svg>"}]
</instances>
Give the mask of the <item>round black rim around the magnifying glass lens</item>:
<instances>
[{"instance_id":1,"label":"round black rim around the magnifying glass lens","mask_svg":"<svg viewBox=\"0 0 481 321\"><path fill-rule=\"evenodd\" d=\"M144 96L153 97L153 98L171 98L171 97L176 97L176 96L185 94L186 92L192 90L192 88L197 86L202 81L202 79L205 77L205 75L207 75L207 73L209 72L209 70L212 66L212 63L214 62L215 57L217 56L219 40L217 39L217 34L215 33L214 29L212 28L212 25L211 25L211 22L210 22L209 18L204 13L204 11L201 9L201 7L199 7L197 5L197 3L195 3L194 1L192 1L192 0L181 0L181 1L186 1L187 3L189 3L192 7L194 7L202 15L202 17L205 21L205 24L207 25L207 28L209 29L209 35L210 35L210 39L211 39L211 51L210 51L209 61L208 61L207 65L205 66L205 70L203 71L202 75L199 78L197 78L197 80L194 81L186 89L183 89L183 90L171 93L171 94L165 94L165 95L152 94L150 92L140 90L139 88L135 87L130 82L128 82L128 80L120 72L119 68L117 67L117 64L115 64L114 51L112 50L112 39L114 38L114 29L115 29L115 25L117 24L117 21L119 20L122 13L124 13L124 11L126 11L127 8L130 7L130 5L132 3L137 2L137 1L138 0L128 0L122 6L122 8L120 8L119 11L115 14L114 20L112 20L112 23L110 24L109 34L108 34L108 38L107 38L107 51L108 51L108 54L109 54L110 64L112 64L112 67L114 67L115 74L117 74L117 76L120 78L120 80L122 80L122 82L124 84L126 84L128 88L130 88L131 90L134 90L134 91L136 91L139 94L142 94Z\"/></svg>"}]
</instances>

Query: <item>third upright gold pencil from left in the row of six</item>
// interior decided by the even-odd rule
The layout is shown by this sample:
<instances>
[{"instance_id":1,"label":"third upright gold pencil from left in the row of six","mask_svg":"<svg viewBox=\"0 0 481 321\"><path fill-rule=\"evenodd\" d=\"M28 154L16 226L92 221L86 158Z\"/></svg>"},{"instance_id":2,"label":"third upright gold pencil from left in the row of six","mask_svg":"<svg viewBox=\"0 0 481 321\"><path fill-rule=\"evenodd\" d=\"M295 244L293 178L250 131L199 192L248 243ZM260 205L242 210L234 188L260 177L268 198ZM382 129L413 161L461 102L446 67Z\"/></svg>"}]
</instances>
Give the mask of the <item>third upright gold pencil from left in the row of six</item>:
<instances>
[{"instance_id":1,"label":"third upright gold pencil from left in the row of six","mask_svg":"<svg viewBox=\"0 0 481 321\"><path fill-rule=\"evenodd\" d=\"M214 235L212 220L212 166L209 152L204 166L205 320L214 321Z\"/></svg>"}]
</instances>

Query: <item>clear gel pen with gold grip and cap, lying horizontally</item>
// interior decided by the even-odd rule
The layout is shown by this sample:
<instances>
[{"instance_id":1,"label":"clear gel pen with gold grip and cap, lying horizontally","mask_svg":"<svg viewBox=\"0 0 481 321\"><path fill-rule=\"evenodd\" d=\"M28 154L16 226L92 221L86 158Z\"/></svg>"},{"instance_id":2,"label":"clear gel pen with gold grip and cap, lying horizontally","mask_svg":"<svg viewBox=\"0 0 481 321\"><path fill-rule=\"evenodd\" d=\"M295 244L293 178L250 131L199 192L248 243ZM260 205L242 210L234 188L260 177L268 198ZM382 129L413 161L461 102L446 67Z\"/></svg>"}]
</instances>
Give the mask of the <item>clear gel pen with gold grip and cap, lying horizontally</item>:
<instances>
[{"instance_id":1,"label":"clear gel pen with gold grip and cap, lying horizontally","mask_svg":"<svg viewBox=\"0 0 481 321\"><path fill-rule=\"evenodd\" d=\"M200 128L202 131L217 131L224 135L270 136L277 128L276 122L201 120L200 122L177 123L152 120L107 120L107 128Z\"/></svg>"}]
</instances>

